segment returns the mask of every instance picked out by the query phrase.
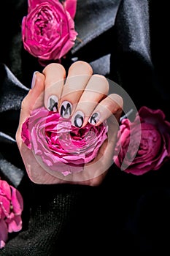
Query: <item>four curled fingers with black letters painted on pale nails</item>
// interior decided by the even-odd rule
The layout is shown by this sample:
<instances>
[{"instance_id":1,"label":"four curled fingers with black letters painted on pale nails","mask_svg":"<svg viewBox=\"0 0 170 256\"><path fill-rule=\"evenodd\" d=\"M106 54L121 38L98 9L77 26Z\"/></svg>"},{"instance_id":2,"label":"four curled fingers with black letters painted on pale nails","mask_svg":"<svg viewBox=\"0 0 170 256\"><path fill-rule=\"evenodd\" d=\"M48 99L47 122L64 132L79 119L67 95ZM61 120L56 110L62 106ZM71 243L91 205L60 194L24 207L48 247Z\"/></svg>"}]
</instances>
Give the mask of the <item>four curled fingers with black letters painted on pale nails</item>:
<instances>
[{"instance_id":1,"label":"four curled fingers with black letters painted on pale nails","mask_svg":"<svg viewBox=\"0 0 170 256\"><path fill-rule=\"evenodd\" d=\"M50 64L45 75L45 107L58 111L63 118L72 116L72 125L98 125L112 114L117 120L123 108L123 100L116 94L107 97L109 83L102 75L93 75L87 62L77 61L66 71L61 64ZM66 81L64 83L64 80Z\"/></svg>"}]
</instances>

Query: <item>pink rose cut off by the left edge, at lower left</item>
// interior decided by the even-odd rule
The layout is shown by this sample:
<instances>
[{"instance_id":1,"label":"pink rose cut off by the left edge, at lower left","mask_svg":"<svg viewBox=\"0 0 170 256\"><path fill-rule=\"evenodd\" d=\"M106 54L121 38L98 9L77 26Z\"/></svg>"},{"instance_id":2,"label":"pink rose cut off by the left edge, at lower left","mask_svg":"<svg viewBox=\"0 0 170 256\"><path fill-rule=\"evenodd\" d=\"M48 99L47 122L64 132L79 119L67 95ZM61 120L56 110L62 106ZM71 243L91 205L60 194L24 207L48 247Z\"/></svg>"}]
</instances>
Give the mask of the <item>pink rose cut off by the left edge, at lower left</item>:
<instances>
[{"instance_id":1,"label":"pink rose cut off by the left edge, at lower left","mask_svg":"<svg viewBox=\"0 0 170 256\"><path fill-rule=\"evenodd\" d=\"M7 181L0 180L0 248L4 247L8 233L22 228L23 197Z\"/></svg>"}]
</instances>

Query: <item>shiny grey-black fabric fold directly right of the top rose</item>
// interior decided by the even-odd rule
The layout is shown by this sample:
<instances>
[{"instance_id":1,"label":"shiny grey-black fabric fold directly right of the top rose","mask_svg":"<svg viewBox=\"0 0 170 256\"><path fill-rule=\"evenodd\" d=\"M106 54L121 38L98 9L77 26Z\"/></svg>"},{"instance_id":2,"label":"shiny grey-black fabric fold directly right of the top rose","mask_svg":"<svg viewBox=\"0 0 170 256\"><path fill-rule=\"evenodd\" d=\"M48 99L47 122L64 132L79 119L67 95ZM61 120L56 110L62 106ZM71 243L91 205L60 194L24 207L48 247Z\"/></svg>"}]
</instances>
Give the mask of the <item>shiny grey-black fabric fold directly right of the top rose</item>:
<instances>
[{"instance_id":1,"label":"shiny grey-black fabric fold directly right of the top rose","mask_svg":"<svg viewBox=\"0 0 170 256\"><path fill-rule=\"evenodd\" d=\"M74 18L78 38L72 48L72 54L96 37L114 26L121 0L77 1L77 12Z\"/></svg>"}]
</instances>

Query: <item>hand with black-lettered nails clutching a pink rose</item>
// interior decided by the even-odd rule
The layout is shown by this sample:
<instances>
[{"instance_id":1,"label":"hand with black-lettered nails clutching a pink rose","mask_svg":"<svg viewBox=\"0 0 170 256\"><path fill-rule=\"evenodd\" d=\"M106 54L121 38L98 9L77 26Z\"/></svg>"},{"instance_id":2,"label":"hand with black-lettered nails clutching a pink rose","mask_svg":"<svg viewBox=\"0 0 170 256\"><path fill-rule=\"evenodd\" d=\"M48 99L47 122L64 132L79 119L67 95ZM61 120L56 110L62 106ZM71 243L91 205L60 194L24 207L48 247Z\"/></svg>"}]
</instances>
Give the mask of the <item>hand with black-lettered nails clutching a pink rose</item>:
<instances>
[{"instance_id":1,"label":"hand with black-lettered nails clutching a pink rose","mask_svg":"<svg viewBox=\"0 0 170 256\"><path fill-rule=\"evenodd\" d=\"M22 102L16 133L18 148L31 181L36 184L101 184L112 165L123 99L117 94L108 95L107 79L101 75L93 75L90 65L83 61L72 64L67 78L61 64L49 64L42 73L35 73L32 83L34 87ZM84 170L80 173L69 174L69 179L61 173L56 177L47 172L21 139L21 130L26 118L30 116L32 110L42 106L48 110L58 110L63 118L72 116L72 124L77 127L84 127L88 121L96 126L105 120L108 122L108 139L99 148L97 157L85 164ZM94 113L98 113L98 116L93 115Z\"/></svg>"}]
</instances>

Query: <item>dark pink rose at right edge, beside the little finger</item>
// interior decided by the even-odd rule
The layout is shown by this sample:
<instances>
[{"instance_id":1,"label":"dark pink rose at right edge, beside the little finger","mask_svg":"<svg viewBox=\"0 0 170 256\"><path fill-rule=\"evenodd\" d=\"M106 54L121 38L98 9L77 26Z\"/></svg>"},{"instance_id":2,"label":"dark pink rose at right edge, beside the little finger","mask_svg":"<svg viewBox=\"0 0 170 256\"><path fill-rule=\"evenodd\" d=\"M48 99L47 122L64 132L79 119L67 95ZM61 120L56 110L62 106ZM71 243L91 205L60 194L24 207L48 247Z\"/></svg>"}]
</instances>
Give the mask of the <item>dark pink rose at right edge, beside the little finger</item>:
<instances>
[{"instance_id":1,"label":"dark pink rose at right edge, beside the little finger","mask_svg":"<svg viewBox=\"0 0 170 256\"><path fill-rule=\"evenodd\" d=\"M162 110L142 107L133 123L128 118L123 119L113 158L118 167L123 164L126 173L142 175L158 170L169 159L170 123Z\"/></svg>"}]
</instances>

